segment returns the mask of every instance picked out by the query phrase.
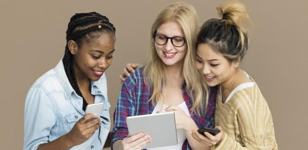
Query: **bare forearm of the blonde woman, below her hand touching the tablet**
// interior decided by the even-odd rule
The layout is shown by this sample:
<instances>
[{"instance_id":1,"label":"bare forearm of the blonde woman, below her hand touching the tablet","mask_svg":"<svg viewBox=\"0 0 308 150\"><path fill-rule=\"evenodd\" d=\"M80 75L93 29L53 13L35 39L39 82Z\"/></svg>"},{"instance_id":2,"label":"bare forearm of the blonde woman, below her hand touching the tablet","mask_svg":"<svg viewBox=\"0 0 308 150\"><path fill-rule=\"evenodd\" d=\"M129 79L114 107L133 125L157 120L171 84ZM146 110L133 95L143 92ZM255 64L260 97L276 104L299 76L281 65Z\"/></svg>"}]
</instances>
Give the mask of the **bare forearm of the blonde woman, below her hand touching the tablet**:
<instances>
[{"instance_id":1,"label":"bare forearm of the blonde woman, below her hand touching the tablet","mask_svg":"<svg viewBox=\"0 0 308 150\"><path fill-rule=\"evenodd\" d=\"M197 140L195 140L192 136L191 136L191 130L192 129L198 129L197 124L195 123L194 120L192 120L190 118L190 120L188 121L189 124L187 125L187 128L184 129L185 132L185 136L188 140L188 143L191 147L191 149L210 149L210 147L207 147L205 144L203 144L202 142L198 142Z\"/></svg>"}]
</instances>

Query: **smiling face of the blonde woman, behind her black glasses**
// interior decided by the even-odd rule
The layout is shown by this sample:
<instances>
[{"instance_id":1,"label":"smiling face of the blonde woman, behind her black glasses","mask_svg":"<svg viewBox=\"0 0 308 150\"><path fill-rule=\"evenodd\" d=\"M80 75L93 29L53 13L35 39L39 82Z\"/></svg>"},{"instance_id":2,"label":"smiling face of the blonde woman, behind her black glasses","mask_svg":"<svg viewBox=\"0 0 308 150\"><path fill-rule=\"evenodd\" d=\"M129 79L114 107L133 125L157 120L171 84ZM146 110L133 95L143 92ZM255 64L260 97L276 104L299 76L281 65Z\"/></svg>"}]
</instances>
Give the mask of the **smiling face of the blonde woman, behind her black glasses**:
<instances>
[{"instance_id":1,"label":"smiling face of the blonde woman, behind her black glasses","mask_svg":"<svg viewBox=\"0 0 308 150\"><path fill-rule=\"evenodd\" d=\"M167 37L175 37L180 36L184 37L184 33L182 31L181 26L174 22L174 21L168 21L164 24L162 24L158 29L156 34L165 35ZM167 43L165 45L158 45L155 43L156 52L159 55L160 59L164 62L167 66L177 65L177 64L183 64L184 58L187 53L187 44L185 44L181 47L175 47L171 43L171 39L168 39Z\"/></svg>"}]
</instances>

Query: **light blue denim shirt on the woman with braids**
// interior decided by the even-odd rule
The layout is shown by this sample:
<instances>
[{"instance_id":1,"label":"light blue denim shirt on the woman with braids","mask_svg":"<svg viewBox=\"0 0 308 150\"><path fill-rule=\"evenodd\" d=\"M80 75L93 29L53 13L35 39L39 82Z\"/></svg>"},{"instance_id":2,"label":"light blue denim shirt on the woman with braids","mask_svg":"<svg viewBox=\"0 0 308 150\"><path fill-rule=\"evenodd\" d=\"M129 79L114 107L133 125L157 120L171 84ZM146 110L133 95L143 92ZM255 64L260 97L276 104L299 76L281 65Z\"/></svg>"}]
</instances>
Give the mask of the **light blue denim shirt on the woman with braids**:
<instances>
[{"instance_id":1,"label":"light blue denim shirt on the woman with braids","mask_svg":"<svg viewBox=\"0 0 308 150\"><path fill-rule=\"evenodd\" d=\"M71 149L102 149L109 134L110 103L105 74L100 80L91 81L91 94L95 96L94 103L104 103L101 127L87 141ZM83 99L70 85L61 60L55 68L37 79L28 91L23 149L37 149L40 144L70 132L74 124L85 115L82 105Z\"/></svg>"}]
</instances>

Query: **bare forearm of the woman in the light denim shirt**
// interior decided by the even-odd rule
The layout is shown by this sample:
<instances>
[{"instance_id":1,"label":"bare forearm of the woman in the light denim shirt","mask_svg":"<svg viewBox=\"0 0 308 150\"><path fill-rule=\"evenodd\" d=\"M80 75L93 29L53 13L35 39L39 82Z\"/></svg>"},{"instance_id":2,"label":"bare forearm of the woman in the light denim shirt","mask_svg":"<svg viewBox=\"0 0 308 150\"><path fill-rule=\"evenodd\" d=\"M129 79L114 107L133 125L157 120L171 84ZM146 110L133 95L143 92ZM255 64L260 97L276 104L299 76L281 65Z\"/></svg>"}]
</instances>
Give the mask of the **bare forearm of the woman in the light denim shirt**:
<instances>
[{"instance_id":1,"label":"bare forearm of the woman in the light denim shirt","mask_svg":"<svg viewBox=\"0 0 308 150\"><path fill-rule=\"evenodd\" d=\"M41 144L40 146L37 147L37 150L44 150L44 149L61 149L61 150L66 150L70 149L73 147L74 144L72 140L69 138L69 136L63 135L60 138L57 138L51 142Z\"/></svg>"}]
</instances>

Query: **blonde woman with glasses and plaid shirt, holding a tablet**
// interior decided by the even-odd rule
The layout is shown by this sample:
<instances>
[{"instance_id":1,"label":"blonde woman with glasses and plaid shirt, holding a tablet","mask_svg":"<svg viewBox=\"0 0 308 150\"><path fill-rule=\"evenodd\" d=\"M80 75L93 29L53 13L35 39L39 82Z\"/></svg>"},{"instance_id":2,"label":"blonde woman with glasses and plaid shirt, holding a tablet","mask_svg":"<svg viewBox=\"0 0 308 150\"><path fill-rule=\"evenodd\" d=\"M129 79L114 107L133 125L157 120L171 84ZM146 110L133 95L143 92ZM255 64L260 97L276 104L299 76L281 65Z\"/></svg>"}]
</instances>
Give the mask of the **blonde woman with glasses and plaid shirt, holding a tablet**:
<instances>
[{"instance_id":1,"label":"blonde woman with glasses and plaid shirt, holding a tablet","mask_svg":"<svg viewBox=\"0 0 308 150\"><path fill-rule=\"evenodd\" d=\"M216 89L206 95L195 67L198 29L192 6L175 3L159 11L150 30L148 61L122 84L114 112L113 149L142 149L151 141L142 133L128 137L126 117L163 111L175 111L178 144L153 149L204 149L191 130L214 127Z\"/></svg>"}]
</instances>

